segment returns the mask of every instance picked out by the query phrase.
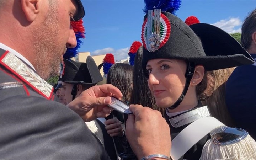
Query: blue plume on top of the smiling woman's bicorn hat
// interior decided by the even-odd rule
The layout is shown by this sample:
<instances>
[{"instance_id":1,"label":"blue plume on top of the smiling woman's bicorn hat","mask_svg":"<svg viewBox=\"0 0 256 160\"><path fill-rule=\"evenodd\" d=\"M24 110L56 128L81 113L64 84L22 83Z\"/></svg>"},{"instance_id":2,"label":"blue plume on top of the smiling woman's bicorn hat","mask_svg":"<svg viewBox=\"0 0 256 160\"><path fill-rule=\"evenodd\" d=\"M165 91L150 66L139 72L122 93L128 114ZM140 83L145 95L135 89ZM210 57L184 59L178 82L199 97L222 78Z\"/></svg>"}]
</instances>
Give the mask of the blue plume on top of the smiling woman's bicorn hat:
<instances>
[{"instance_id":1,"label":"blue plume on top of the smiling woman's bicorn hat","mask_svg":"<svg viewBox=\"0 0 256 160\"><path fill-rule=\"evenodd\" d=\"M148 10L161 9L162 12L175 14L180 8L181 0L144 0L144 3L144 13L147 13Z\"/></svg>"}]
</instances>

